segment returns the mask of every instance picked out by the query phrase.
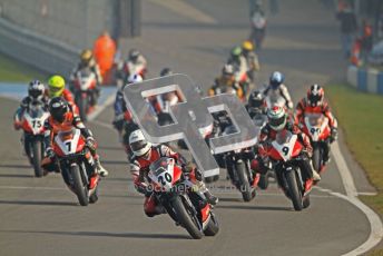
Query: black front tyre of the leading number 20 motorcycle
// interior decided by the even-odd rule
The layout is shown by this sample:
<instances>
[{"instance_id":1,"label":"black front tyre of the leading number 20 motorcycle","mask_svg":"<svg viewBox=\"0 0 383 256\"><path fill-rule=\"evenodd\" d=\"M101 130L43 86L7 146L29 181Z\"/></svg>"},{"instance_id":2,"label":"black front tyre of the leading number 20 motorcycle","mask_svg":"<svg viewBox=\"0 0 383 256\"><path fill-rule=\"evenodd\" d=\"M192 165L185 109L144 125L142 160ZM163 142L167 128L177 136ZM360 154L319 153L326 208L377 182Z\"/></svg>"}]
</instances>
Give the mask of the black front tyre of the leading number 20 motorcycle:
<instances>
[{"instance_id":1,"label":"black front tyre of the leading number 20 motorcycle","mask_svg":"<svg viewBox=\"0 0 383 256\"><path fill-rule=\"evenodd\" d=\"M186 230L189 233L189 235L194 239L200 239L203 237L203 232L199 229L197 224L193 221L192 216L188 214L188 211L185 208L183 199L179 196L177 196L170 204L174 208L174 211L177 215L177 219L179 224L184 228L186 228Z\"/></svg>"}]
</instances>

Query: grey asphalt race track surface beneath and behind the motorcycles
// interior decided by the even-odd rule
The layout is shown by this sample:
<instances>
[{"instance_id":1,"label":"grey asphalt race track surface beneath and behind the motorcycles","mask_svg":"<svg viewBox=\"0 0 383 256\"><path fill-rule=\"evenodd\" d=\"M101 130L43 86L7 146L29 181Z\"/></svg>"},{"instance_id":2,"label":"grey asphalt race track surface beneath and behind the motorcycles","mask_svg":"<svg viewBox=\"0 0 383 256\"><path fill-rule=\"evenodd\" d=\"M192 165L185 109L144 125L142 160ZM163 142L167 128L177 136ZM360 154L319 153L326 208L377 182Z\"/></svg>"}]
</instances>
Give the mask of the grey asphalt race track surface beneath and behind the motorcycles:
<instances>
[{"instance_id":1,"label":"grey asphalt race track surface beneath and behind the motorcycles","mask_svg":"<svg viewBox=\"0 0 383 256\"><path fill-rule=\"evenodd\" d=\"M343 79L345 63L333 12L313 0L281 2L281 13L269 17L258 81L273 70L283 71L296 101L311 82ZM137 47L148 57L149 77L170 67L207 89L230 47L248 36L246 7L247 1L196 0L169 8L145 0L143 37L121 46L125 52ZM195 9L203 12L190 16ZM168 216L145 216L144 198L131 186L125 152L110 126L111 107L89 122L110 175L100 183L99 201L80 207L61 176L32 177L20 134L12 130L18 101L1 98L0 107L0 255L342 255L370 236L366 216L331 194L345 194L333 160L308 209L294 211L275 184L251 203L228 189L216 193L220 233L193 240ZM356 167L351 171L359 191L372 191ZM225 176L222 170L216 187L229 186Z\"/></svg>"}]
</instances>

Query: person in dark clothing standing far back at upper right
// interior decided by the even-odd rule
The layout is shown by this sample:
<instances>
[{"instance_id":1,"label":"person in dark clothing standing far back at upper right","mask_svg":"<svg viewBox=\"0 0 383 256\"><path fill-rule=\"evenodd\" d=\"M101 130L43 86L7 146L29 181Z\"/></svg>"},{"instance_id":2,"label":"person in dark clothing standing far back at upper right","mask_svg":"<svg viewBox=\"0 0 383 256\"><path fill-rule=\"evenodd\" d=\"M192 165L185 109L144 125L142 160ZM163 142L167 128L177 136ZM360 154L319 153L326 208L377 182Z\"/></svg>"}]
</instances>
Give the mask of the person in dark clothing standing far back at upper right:
<instances>
[{"instance_id":1,"label":"person in dark clothing standing far back at upper right","mask_svg":"<svg viewBox=\"0 0 383 256\"><path fill-rule=\"evenodd\" d=\"M357 31L356 17L347 1L340 1L336 18L341 22L341 40L345 58L351 57L352 43Z\"/></svg>"}]
</instances>

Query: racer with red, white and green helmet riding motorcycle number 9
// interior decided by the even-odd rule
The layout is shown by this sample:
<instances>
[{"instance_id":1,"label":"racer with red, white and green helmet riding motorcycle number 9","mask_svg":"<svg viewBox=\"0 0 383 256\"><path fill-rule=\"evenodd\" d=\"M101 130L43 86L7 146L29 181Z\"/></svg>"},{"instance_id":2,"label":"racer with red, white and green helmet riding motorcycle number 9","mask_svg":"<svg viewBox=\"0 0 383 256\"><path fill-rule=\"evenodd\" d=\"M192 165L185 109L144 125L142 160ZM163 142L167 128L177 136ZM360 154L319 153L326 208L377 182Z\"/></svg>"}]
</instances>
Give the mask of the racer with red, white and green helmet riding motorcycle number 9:
<instances>
[{"instance_id":1,"label":"racer with red, white and green helmet riding motorcycle number 9","mask_svg":"<svg viewBox=\"0 0 383 256\"><path fill-rule=\"evenodd\" d=\"M311 146L308 137L299 130L297 126L292 124L284 108L275 106L267 111L268 122L261 130L259 145L257 146L257 157L252 161L252 169L259 174L265 174L268 169L268 156L267 150L269 142L276 139L277 132L287 130L294 135L297 135L298 141L304 146L304 154L302 160L298 163L302 171L305 173L305 190L308 191L313 181L320 181L321 176L314 170L311 164L311 156L313 148Z\"/></svg>"}]
</instances>

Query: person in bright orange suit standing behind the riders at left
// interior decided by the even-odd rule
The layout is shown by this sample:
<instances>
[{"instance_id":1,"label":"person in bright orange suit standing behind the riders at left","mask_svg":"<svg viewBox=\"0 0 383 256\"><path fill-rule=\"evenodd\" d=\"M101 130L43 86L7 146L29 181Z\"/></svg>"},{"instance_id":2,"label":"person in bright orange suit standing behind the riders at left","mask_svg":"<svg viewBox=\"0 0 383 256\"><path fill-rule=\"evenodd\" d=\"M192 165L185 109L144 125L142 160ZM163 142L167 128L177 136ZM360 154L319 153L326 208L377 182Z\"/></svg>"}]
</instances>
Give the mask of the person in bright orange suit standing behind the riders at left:
<instances>
[{"instance_id":1,"label":"person in bright orange suit standing behind the riders at left","mask_svg":"<svg viewBox=\"0 0 383 256\"><path fill-rule=\"evenodd\" d=\"M115 62L116 42L109 36L108 31L104 31L94 45L94 55L105 83L110 82L110 69Z\"/></svg>"}]
</instances>

